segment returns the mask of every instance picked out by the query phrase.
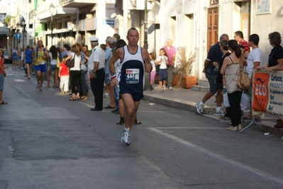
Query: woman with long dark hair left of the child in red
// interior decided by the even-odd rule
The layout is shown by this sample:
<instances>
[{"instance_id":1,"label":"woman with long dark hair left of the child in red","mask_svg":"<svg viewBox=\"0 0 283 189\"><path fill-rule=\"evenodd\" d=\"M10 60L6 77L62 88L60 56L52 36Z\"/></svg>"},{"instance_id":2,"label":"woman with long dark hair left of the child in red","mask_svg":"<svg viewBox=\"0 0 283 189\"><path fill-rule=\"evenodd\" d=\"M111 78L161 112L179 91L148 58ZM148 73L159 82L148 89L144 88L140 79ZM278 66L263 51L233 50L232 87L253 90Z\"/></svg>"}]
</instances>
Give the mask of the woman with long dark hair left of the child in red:
<instances>
[{"instance_id":1,"label":"woman with long dark hair left of the child in red","mask_svg":"<svg viewBox=\"0 0 283 189\"><path fill-rule=\"evenodd\" d=\"M59 56L57 54L57 50L54 45L50 47L49 56L50 56L50 67L48 69L48 74L47 74L48 84L44 88L50 88L50 75L52 74L52 71L54 71L54 75L53 75L54 84L52 87L57 88L58 87L58 84L57 84L58 73L56 73L57 71L55 70L57 67L57 57L59 58Z\"/></svg>"}]
</instances>

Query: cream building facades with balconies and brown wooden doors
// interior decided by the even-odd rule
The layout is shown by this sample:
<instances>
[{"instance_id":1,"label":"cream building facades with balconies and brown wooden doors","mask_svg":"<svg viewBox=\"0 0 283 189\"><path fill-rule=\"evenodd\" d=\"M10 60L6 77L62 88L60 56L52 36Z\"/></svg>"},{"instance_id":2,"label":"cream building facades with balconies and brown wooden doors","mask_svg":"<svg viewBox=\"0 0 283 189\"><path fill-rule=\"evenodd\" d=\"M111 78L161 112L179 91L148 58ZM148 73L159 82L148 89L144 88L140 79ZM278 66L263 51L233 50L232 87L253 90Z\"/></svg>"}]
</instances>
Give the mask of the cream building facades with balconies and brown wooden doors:
<instances>
[{"instance_id":1,"label":"cream building facades with balconies and brown wooden doors","mask_svg":"<svg viewBox=\"0 0 283 189\"><path fill-rule=\"evenodd\" d=\"M113 33L126 40L128 29L135 27L140 45L146 44L149 52L159 52L168 39L177 49L186 47L188 55L196 52L192 74L201 80L206 80L202 70L207 52L222 33L233 39L234 32L241 30L245 40L257 33L262 64L267 64L272 49L268 34L278 31L283 35L281 0L17 0L12 4L7 13L11 16L7 24L11 49L35 45L39 39L48 47L74 42L90 46L89 35L105 43ZM21 40L16 33L21 33Z\"/></svg>"}]
</instances>

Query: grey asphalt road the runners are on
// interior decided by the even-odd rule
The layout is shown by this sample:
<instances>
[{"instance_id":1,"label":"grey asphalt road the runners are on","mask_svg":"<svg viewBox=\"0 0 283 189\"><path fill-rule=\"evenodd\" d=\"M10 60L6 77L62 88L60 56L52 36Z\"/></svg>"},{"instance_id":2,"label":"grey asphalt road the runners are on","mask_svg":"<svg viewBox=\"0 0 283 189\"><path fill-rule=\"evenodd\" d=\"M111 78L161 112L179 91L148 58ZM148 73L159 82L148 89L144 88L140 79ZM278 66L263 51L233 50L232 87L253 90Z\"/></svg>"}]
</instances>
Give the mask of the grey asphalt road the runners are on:
<instances>
[{"instance_id":1,"label":"grey asphalt road the runners are on","mask_svg":"<svg viewBox=\"0 0 283 189\"><path fill-rule=\"evenodd\" d=\"M69 101L6 70L0 105L0 189L283 188L281 137L141 101L131 146L111 110ZM45 85L44 85L45 86ZM109 99L104 98L104 105Z\"/></svg>"}]
</instances>

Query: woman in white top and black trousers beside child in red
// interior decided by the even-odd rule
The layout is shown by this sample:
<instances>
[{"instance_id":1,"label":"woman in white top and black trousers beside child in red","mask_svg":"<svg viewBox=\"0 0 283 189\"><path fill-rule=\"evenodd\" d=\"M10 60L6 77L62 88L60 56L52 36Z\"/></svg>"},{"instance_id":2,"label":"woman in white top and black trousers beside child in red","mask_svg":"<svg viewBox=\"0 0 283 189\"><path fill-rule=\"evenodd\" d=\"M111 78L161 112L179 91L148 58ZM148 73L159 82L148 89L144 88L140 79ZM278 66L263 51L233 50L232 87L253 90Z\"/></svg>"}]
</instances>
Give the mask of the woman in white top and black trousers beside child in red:
<instances>
[{"instance_id":1,"label":"woman in white top and black trousers beside child in red","mask_svg":"<svg viewBox=\"0 0 283 189\"><path fill-rule=\"evenodd\" d=\"M78 101L81 88L79 77L81 76L80 65L82 59L78 45L72 45L71 51L72 52L70 53L70 55L67 58L63 59L63 62L69 59L74 59L74 67L70 68L70 83L72 88L72 98L70 98L70 101Z\"/></svg>"}]
</instances>

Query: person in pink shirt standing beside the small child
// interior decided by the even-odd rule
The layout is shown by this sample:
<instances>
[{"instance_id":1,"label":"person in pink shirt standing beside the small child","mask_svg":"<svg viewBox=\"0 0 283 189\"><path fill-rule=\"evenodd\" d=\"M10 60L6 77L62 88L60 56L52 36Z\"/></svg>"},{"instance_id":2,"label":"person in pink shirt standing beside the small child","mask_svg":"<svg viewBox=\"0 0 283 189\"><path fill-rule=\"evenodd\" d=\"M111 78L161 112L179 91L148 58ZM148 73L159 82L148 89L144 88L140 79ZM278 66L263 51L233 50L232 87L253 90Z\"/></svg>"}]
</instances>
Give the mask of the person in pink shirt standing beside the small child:
<instances>
[{"instance_id":1,"label":"person in pink shirt standing beside the small child","mask_svg":"<svg viewBox=\"0 0 283 189\"><path fill-rule=\"evenodd\" d=\"M172 80L173 80L173 69L175 64L176 57L176 48L172 46L173 41L171 39L167 40L167 45L163 47L168 57L168 66L167 66L167 86L170 90L172 88Z\"/></svg>"}]
</instances>

